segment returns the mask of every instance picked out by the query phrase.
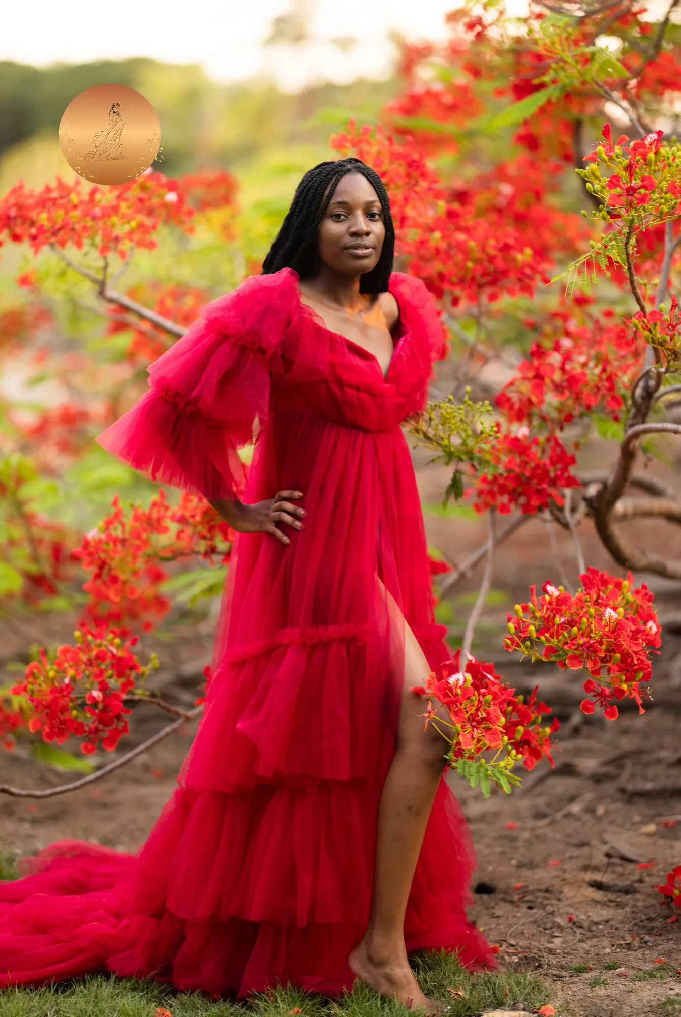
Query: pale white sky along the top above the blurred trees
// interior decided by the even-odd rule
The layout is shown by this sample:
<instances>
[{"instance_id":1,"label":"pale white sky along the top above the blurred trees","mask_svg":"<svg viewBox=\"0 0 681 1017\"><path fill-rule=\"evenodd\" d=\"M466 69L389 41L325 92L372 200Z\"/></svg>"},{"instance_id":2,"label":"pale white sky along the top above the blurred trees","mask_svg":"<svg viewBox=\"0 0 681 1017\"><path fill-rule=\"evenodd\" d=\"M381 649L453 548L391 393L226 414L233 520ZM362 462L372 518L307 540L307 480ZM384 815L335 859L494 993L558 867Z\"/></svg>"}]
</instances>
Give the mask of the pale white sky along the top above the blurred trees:
<instances>
[{"instance_id":1,"label":"pale white sky along the top above the blurred trees","mask_svg":"<svg viewBox=\"0 0 681 1017\"><path fill-rule=\"evenodd\" d=\"M309 14L311 41L263 47L273 18L292 3ZM444 14L460 0L23 0L2 4L0 60L57 61L146 56L200 63L220 82L271 75L295 92L315 79L347 83L385 77L395 50L387 33L411 40L446 37ZM354 37L344 52L330 40Z\"/></svg>"}]
</instances>

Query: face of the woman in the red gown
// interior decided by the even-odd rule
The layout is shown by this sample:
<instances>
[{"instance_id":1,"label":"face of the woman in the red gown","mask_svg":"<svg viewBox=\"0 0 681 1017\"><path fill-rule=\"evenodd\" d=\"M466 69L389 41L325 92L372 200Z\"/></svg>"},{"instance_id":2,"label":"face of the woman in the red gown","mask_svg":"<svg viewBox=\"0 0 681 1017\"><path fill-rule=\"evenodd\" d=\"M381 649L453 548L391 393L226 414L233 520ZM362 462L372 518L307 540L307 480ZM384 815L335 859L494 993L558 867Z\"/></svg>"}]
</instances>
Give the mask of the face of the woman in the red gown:
<instances>
[{"instance_id":1,"label":"face of the woman in the red gown","mask_svg":"<svg viewBox=\"0 0 681 1017\"><path fill-rule=\"evenodd\" d=\"M324 191L324 198L330 189ZM323 200L323 198L322 198ZM340 177L317 232L319 256L336 272L371 272L380 257L385 224L378 195L361 173Z\"/></svg>"}]
</instances>

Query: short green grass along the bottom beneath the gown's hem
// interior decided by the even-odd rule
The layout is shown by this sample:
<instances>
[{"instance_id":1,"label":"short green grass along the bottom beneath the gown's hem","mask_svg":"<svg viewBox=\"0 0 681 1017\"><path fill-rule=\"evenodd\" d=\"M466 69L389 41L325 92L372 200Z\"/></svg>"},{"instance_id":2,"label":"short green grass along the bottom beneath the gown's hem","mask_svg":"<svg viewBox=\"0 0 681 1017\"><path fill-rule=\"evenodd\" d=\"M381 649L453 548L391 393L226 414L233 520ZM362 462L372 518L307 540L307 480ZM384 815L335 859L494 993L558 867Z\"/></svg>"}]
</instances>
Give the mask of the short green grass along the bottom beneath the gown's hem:
<instances>
[{"instance_id":1,"label":"short green grass along the bottom beneath the gown's hem","mask_svg":"<svg viewBox=\"0 0 681 1017\"><path fill-rule=\"evenodd\" d=\"M423 990L450 1003L450 1017L468 1017L523 1000L539 1009L549 998L548 986L532 974L471 973L445 952L424 954L413 961ZM463 994L452 996L447 989ZM302 990L278 988L251 997L246 1004L213 1002L201 993L176 993L154 981L91 975L44 989L13 988L0 992L0 1017L154 1017L157 1007L173 1017L408 1017L413 1011L381 999L357 982L352 993L329 1000Z\"/></svg>"}]
</instances>

